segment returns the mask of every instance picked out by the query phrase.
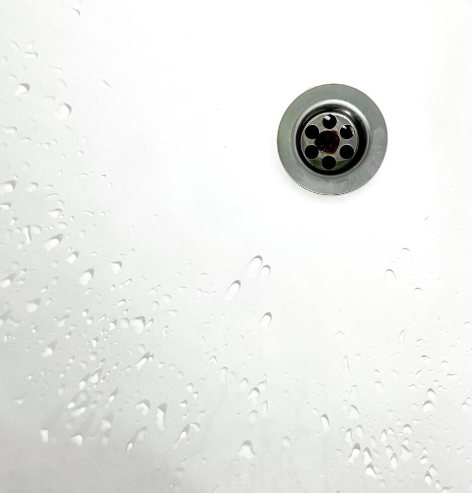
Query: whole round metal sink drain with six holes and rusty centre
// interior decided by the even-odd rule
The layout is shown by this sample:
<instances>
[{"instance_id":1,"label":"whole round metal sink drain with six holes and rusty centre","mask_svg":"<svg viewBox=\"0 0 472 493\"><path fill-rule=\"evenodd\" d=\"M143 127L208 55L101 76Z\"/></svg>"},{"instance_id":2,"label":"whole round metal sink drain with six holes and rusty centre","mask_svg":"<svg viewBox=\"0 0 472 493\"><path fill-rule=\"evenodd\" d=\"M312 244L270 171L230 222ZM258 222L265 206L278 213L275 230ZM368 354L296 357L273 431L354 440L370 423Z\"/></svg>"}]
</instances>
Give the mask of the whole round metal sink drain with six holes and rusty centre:
<instances>
[{"instance_id":1,"label":"whole round metal sink drain with six holes and rusty centre","mask_svg":"<svg viewBox=\"0 0 472 493\"><path fill-rule=\"evenodd\" d=\"M355 190L381 165L385 120L375 103L349 86L309 89L285 111L277 145L287 173L312 192Z\"/></svg>"}]
</instances>

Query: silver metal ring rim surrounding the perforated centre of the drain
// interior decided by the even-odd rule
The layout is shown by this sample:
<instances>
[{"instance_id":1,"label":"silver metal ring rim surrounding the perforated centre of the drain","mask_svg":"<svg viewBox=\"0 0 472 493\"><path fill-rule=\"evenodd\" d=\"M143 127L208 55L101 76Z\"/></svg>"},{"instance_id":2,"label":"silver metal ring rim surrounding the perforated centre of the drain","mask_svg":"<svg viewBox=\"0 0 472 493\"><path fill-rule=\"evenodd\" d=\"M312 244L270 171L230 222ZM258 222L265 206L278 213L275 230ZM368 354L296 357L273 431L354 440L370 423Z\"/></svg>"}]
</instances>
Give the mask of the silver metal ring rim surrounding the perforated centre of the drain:
<instances>
[{"instance_id":1,"label":"silver metal ring rim surrounding the perforated centre of the drain","mask_svg":"<svg viewBox=\"0 0 472 493\"><path fill-rule=\"evenodd\" d=\"M303 122L329 107L341 107L361 122L366 133L365 148L358 162L336 175L308 168L297 149ZM280 121L277 147L282 165L295 182L311 192L339 195L359 188L375 175L386 152L387 129L380 110L366 94L350 86L327 84L309 89L289 105Z\"/></svg>"}]
</instances>

